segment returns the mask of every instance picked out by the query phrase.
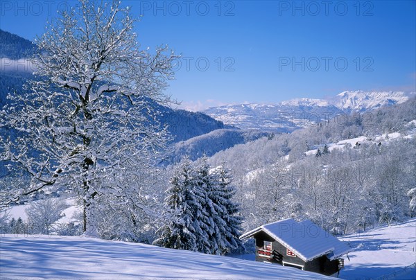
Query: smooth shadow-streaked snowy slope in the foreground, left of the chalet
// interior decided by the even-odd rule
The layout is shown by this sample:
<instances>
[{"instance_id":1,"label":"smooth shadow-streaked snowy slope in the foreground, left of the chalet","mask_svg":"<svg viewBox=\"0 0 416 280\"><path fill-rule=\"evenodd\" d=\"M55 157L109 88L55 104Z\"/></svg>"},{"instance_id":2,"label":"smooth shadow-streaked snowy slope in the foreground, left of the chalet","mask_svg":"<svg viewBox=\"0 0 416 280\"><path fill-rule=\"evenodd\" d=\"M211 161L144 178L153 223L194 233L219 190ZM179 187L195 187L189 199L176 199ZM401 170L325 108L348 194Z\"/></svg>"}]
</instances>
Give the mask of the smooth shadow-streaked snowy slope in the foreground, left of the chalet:
<instances>
[{"instance_id":1,"label":"smooth shadow-streaked snowy slope in the foreground, left of the chalet","mask_svg":"<svg viewBox=\"0 0 416 280\"><path fill-rule=\"evenodd\" d=\"M0 279L333 279L139 243L61 236L0 238Z\"/></svg>"}]
</instances>

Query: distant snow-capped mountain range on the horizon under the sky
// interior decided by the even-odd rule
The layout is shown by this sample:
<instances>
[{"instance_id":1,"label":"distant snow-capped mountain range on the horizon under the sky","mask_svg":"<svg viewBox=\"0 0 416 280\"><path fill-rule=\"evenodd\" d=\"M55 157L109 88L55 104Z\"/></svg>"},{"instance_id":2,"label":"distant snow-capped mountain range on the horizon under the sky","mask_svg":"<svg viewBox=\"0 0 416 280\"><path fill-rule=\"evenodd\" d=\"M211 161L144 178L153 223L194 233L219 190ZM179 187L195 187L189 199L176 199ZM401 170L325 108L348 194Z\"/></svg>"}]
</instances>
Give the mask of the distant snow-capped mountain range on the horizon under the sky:
<instances>
[{"instance_id":1,"label":"distant snow-capped mountain range on the horizon under the sky","mask_svg":"<svg viewBox=\"0 0 416 280\"><path fill-rule=\"evenodd\" d=\"M338 114L365 112L404 103L416 96L404 91L343 91L322 99L295 98L274 105L240 104L210 107L205 114L241 129L291 132Z\"/></svg>"}]
</instances>

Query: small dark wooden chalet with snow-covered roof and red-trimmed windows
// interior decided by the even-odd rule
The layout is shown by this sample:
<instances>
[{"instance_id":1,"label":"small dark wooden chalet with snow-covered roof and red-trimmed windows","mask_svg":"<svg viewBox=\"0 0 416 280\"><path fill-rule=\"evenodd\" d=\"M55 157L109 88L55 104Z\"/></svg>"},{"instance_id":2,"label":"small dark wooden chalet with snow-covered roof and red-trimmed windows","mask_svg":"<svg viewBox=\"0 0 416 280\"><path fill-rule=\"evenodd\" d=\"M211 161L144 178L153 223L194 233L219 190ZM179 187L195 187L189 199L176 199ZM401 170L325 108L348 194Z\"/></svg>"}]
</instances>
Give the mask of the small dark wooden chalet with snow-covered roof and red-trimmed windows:
<instances>
[{"instance_id":1,"label":"small dark wooden chalet with snow-covered roof and red-trimmed windows","mask_svg":"<svg viewBox=\"0 0 416 280\"><path fill-rule=\"evenodd\" d=\"M256 241L256 261L332 276L344 267L340 256L350 251L345 243L310 220L272 222L240 236L245 238Z\"/></svg>"}]
</instances>

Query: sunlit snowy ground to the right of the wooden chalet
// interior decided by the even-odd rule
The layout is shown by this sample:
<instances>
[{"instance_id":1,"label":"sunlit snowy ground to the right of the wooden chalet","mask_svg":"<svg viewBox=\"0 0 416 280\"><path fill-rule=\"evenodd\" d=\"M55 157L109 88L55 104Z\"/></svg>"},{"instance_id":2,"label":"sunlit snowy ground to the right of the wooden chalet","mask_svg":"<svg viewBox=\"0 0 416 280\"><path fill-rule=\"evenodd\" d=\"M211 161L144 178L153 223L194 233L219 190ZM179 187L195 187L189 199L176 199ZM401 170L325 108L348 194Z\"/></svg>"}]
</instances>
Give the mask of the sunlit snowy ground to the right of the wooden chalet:
<instances>
[{"instance_id":1,"label":"sunlit snowy ground to the right of the wooden chalet","mask_svg":"<svg viewBox=\"0 0 416 280\"><path fill-rule=\"evenodd\" d=\"M416 279L416 219L391 227L379 227L345 236L354 248L345 259L344 279Z\"/></svg>"}]
</instances>

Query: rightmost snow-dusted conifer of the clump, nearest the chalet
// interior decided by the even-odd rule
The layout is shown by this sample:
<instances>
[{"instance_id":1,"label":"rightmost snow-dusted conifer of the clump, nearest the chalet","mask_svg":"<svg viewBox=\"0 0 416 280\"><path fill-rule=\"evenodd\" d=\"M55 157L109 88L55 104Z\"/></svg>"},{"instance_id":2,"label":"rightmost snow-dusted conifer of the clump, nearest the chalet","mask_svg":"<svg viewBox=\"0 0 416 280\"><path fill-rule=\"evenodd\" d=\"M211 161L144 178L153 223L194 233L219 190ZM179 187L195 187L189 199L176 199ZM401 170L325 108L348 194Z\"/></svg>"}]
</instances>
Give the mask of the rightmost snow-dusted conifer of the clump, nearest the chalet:
<instances>
[{"instance_id":1,"label":"rightmost snow-dusted conifer of the clump, nearest the chalet","mask_svg":"<svg viewBox=\"0 0 416 280\"><path fill-rule=\"evenodd\" d=\"M232 198L236 189L232 186L232 173L224 164L218 166L210 175L211 188L207 191L211 207L216 216L213 216L215 231L211 236L216 247L212 254L225 254L230 250L243 247L239 239L241 235L243 217L240 216L240 205L233 202Z\"/></svg>"}]
</instances>

